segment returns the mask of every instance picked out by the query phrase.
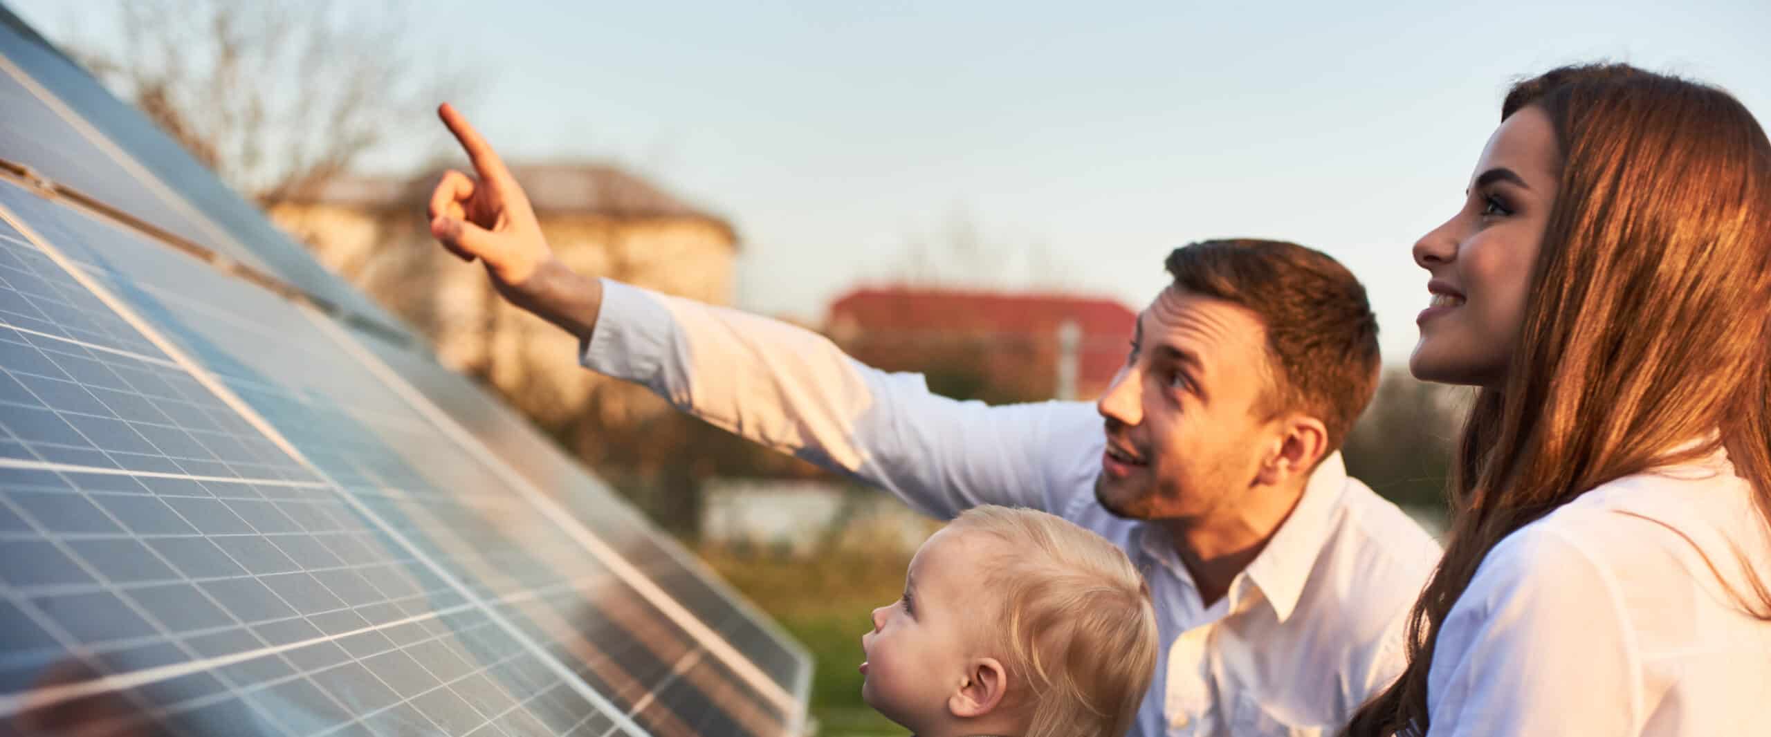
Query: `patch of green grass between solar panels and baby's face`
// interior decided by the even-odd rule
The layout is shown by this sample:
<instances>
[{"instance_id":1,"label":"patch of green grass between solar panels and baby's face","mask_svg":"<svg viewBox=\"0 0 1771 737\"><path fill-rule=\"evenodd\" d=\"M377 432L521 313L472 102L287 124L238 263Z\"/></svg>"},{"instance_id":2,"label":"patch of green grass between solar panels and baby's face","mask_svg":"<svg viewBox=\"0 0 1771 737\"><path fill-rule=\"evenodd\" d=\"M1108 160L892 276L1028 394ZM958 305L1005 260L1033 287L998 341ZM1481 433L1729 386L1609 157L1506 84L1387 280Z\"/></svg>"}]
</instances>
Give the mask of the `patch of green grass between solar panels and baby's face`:
<instances>
[{"instance_id":1,"label":"patch of green grass between solar panels and baby's face","mask_svg":"<svg viewBox=\"0 0 1771 737\"><path fill-rule=\"evenodd\" d=\"M850 540L854 542L854 540ZM845 544L811 558L701 549L701 558L808 650L815 663L811 718L822 737L898 737L903 726L861 700L861 634L871 611L898 599L910 558ZM878 546L877 549L884 549Z\"/></svg>"}]
</instances>

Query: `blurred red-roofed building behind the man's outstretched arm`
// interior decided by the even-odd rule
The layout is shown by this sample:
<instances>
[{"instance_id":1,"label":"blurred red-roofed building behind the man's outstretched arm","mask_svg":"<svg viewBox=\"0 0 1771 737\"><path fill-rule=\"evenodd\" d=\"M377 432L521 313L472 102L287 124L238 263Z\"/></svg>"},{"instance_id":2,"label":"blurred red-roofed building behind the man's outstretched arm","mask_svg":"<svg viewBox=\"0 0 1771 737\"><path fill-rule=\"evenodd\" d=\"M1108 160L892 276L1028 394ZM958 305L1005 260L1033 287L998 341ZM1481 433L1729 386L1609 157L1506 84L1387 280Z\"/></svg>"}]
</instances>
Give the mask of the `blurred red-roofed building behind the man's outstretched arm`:
<instances>
[{"instance_id":1,"label":"blurred red-roofed building behind the man's outstretched arm","mask_svg":"<svg viewBox=\"0 0 1771 737\"><path fill-rule=\"evenodd\" d=\"M1135 322L1102 298L886 287L836 299L825 331L864 363L926 374L935 392L1018 402L1098 397Z\"/></svg>"}]
</instances>

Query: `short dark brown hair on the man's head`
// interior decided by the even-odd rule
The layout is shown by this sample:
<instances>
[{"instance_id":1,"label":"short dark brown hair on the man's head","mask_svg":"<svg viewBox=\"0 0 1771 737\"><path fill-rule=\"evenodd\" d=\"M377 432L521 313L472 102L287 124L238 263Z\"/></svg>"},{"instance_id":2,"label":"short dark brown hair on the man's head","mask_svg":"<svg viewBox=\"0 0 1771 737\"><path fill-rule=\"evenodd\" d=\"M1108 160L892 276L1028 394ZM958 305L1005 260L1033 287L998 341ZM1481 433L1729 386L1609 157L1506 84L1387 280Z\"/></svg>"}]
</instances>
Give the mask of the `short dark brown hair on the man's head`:
<instances>
[{"instance_id":1,"label":"short dark brown hair on the man's head","mask_svg":"<svg viewBox=\"0 0 1771 737\"><path fill-rule=\"evenodd\" d=\"M1270 415L1302 411L1328 429L1332 454L1378 388L1378 317L1365 287L1328 253L1286 241L1188 243L1164 264L1174 287L1261 317L1273 386Z\"/></svg>"}]
</instances>

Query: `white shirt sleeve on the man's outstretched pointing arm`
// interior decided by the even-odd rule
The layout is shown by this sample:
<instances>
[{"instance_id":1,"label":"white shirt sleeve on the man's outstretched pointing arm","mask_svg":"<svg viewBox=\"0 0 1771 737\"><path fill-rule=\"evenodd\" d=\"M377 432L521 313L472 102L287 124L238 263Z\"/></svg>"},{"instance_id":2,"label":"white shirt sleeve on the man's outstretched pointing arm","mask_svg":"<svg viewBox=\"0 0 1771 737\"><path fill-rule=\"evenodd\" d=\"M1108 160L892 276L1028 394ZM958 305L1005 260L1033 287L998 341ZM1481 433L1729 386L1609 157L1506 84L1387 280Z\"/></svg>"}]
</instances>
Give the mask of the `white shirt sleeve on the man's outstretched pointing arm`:
<instances>
[{"instance_id":1,"label":"white shirt sleeve on the man's outstretched pointing arm","mask_svg":"<svg viewBox=\"0 0 1771 737\"><path fill-rule=\"evenodd\" d=\"M604 280L581 363L724 431L884 487L942 519L995 503L1057 512L1100 450L1086 402L992 407L855 361L809 330ZM1082 454L1082 455L1079 455Z\"/></svg>"}]
</instances>

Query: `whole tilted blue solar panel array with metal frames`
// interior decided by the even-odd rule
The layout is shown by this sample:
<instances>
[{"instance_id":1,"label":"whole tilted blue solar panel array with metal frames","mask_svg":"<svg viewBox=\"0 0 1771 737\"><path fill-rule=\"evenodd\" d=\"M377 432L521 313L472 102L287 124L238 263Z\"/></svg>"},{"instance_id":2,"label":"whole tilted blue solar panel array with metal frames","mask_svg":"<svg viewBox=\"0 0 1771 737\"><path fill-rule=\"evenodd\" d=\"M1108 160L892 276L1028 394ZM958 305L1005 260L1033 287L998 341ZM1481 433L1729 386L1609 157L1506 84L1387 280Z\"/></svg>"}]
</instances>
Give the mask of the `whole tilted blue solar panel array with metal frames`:
<instances>
[{"instance_id":1,"label":"whole tilted blue solar panel array with metal frames","mask_svg":"<svg viewBox=\"0 0 1771 737\"><path fill-rule=\"evenodd\" d=\"M0 733L802 730L767 617L4 9L0 167Z\"/></svg>"}]
</instances>

